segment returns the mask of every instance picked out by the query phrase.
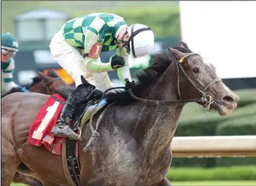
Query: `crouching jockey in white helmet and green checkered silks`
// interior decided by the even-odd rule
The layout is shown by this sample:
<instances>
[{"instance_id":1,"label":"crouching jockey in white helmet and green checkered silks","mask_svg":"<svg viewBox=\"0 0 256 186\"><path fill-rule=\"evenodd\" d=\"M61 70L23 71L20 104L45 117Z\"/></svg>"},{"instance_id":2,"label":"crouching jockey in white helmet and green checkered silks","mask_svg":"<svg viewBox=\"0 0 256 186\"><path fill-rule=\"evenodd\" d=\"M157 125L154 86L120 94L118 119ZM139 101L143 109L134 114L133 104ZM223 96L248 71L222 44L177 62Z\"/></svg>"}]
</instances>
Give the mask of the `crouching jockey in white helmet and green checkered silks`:
<instances>
[{"instance_id":1,"label":"crouching jockey in white helmet and green checkered silks","mask_svg":"<svg viewBox=\"0 0 256 186\"><path fill-rule=\"evenodd\" d=\"M128 26L124 19L112 13L91 13L69 20L57 32L50 43L54 59L74 78L76 89L72 92L52 129L52 135L77 140L78 135L69 128L69 121L76 106L86 101L93 89L105 91L113 87L107 71L117 70L124 82L132 81L128 58L149 54L154 44L154 35L149 27L141 24ZM109 63L100 61L101 51L117 48L117 55ZM81 75L91 84L81 82ZM103 100L106 102L106 100Z\"/></svg>"}]
</instances>

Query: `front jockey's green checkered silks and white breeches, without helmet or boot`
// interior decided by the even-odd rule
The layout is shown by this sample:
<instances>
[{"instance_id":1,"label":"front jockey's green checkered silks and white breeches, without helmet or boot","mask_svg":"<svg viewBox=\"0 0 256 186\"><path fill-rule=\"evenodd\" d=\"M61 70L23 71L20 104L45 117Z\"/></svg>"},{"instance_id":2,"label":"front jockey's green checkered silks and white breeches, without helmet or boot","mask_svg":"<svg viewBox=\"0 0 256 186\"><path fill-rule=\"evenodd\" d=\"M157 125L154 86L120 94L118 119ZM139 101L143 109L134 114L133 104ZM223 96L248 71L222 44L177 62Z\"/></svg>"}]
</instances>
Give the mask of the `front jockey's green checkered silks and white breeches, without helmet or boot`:
<instances>
[{"instance_id":1,"label":"front jockey's green checkered silks and white breeches, without helmet or boot","mask_svg":"<svg viewBox=\"0 0 256 186\"><path fill-rule=\"evenodd\" d=\"M84 58L82 55L89 54L93 45L99 43L103 45L100 51L116 49L115 37L122 26L128 27L123 18L111 13L92 13L69 20L52 38L50 51L55 61L73 77L76 86L81 84L80 76L83 75L97 89L105 91L112 87L107 75L107 71L113 70L111 63L101 63L99 54L95 57L85 55ZM117 48L117 54L128 61L129 54L124 54L122 49ZM132 79L129 64L125 63L122 68L118 68L117 75L122 82L124 77Z\"/></svg>"}]
</instances>

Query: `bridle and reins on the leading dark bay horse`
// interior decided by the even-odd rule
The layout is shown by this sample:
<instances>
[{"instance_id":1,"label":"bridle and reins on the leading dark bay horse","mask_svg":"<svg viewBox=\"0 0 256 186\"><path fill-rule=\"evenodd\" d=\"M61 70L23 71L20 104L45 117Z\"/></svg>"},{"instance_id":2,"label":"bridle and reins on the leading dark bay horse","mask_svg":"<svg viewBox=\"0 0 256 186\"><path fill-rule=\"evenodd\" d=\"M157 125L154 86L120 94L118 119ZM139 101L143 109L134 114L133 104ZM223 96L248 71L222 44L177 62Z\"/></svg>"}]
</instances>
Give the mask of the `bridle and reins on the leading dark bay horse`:
<instances>
[{"instance_id":1,"label":"bridle and reins on the leading dark bay horse","mask_svg":"<svg viewBox=\"0 0 256 186\"><path fill-rule=\"evenodd\" d=\"M212 99L212 97L209 94L206 94L206 89L208 89L209 87L211 87L211 85L214 85L214 83L216 82L221 82L222 80L220 78L216 78L214 80L212 80L211 82L207 83L207 85L205 87L201 87L199 85L197 85L196 82L194 82L194 80L192 80L187 73L185 72L184 68L182 67L181 63L185 61L185 59L189 58L190 56L195 56L195 55L199 55L197 53L190 53L187 54L186 56L180 58L179 61L176 61L176 66L177 66L177 73L178 73L178 82L177 82L177 87L178 87L178 95L180 97L179 100L168 100L168 101L157 101L157 100L151 100L151 99L141 99L139 97L136 97L133 93L132 93L132 89L131 87L129 87L127 89L127 92L136 100L138 101L143 101L145 103L153 103L153 104L184 104L184 103L189 103L189 102L197 102L197 103L202 103L204 108L206 108L206 111L209 111L211 104L214 103L214 99ZM197 89L197 91L202 93L202 97L196 98L196 99L182 99L182 96L180 94L180 70L182 71L182 73L185 75L185 77L187 78L187 80L190 82L190 84ZM129 82L128 79L125 80L126 82Z\"/></svg>"}]
</instances>

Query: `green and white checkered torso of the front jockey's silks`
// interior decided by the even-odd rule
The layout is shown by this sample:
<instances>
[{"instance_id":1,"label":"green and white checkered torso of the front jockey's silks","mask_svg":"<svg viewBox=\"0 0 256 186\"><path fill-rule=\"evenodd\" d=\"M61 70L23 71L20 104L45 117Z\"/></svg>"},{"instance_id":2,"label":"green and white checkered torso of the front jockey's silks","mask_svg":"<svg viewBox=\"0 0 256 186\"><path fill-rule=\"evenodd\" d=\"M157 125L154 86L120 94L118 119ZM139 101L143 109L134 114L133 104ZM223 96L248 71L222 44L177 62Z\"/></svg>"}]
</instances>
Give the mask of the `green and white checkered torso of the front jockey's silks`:
<instances>
[{"instance_id":1,"label":"green and white checkered torso of the front jockey's silks","mask_svg":"<svg viewBox=\"0 0 256 186\"><path fill-rule=\"evenodd\" d=\"M101 51L116 49L115 35L121 25L127 23L120 16L112 13L91 13L69 20L62 27L62 32L68 44L84 49L84 54L88 54L95 42L103 43Z\"/></svg>"}]
</instances>

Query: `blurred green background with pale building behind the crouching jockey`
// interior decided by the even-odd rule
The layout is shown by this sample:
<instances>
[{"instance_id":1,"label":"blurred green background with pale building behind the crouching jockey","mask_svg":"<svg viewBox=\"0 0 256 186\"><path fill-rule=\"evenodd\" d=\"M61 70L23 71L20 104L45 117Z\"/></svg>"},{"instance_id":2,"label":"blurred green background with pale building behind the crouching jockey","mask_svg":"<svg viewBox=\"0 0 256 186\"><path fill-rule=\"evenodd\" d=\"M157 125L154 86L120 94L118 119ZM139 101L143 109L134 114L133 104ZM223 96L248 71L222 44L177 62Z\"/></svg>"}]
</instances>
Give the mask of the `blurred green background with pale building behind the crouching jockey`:
<instances>
[{"instance_id":1,"label":"blurred green background with pale building behind the crouching jockey","mask_svg":"<svg viewBox=\"0 0 256 186\"><path fill-rule=\"evenodd\" d=\"M67 20L94 12L116 13L128 24L149 25L156 35L151 54L166 48L163 42L173 45L180 39L179 8L175 1L4 1L1 31L16 35L20 44L15 57L14 80L19 84L29 83L35 76L35 69L59 68L50 54L50 40ZM108 62L115 54L116 51L103 52L100 57L103 62ZM150 59L151 55L148 55L129 61L132 75L149 66ZM63 70L58 71L67 82L73 81ZM115 71L109 75L116 86L120 85Z\"/></svg>"}]
</instances>

